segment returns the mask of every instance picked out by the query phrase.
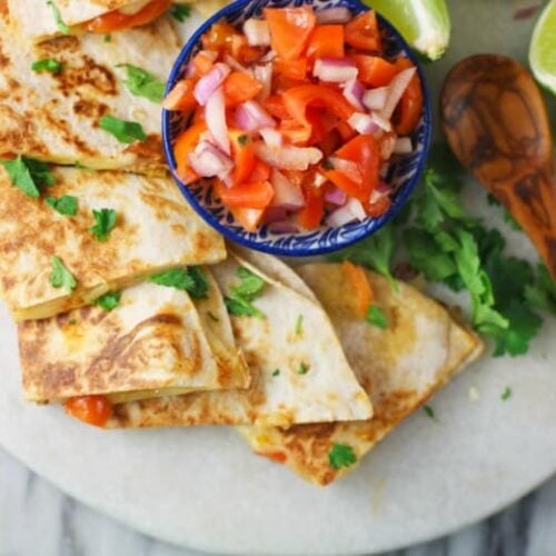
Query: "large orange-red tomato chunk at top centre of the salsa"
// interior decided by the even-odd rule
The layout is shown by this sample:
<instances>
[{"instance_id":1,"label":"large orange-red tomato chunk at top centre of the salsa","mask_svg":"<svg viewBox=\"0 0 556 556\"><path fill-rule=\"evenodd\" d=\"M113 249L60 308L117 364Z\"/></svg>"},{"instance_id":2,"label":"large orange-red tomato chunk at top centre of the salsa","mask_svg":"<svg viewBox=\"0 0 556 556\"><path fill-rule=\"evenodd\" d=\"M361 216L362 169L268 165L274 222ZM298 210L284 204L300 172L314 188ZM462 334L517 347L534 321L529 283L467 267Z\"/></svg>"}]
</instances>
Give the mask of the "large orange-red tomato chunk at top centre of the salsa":
<instances>
[{"instance_id":1,"label":"large orange-red tomato chunk at top centre of the salsa","mask_svg":"<svg viewBox=\"0 0 556 556\"><path fill-rule=\"evenodd\" d=\"M270 43L282 60L299 58L317 18L311 8L265 8L265 18L270 28Z\"/></svg>"}]
</instances>

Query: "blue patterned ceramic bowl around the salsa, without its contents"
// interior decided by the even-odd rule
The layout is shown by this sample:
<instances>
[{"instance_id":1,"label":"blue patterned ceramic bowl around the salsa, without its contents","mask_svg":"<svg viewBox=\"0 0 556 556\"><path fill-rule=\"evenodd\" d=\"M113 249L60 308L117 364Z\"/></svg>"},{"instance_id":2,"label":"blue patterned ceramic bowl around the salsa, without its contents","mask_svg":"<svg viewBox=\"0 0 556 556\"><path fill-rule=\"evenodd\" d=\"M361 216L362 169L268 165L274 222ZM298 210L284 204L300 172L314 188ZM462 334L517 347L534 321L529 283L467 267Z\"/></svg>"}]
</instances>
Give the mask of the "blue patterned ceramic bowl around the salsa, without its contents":
<instances>
[{"instance_id":1,"label":"blue patterned ceramic bowl around the salsa, without its contents","mask_svg":"<svg viewBox=\"0 0 556 556\"><path fill-rule=\"evenodd\" d=\"M240 27L245 20L251 17L260 17L262 8L286 6L312 6L316 11L327 8L347 7L354 14L368 10L358 0L237 0L215 13L191 36L181 50L173 64L168 80L167 92L186 73L186 68L192 54L199 48L201 36L219 20L227 20L232 26ZM163 110L162 135L166 158L181 192L193 207L193 209L216 230L227 238L245 247L259 251L270 252L286 257L308 257L336 251L379 230L390 220L407 202L413 190L417 186L425 167L431 133L430 99L425 86L425 77L417 60L413 56L408 44L394 27L379 17L380 29L385 46L386 57L395 59L399 57L409 58L418 68L424 95L424 109L420 122L411 135L414 152L404 157L395 157L390 161L390 170L386 181L394 186L395 195L393 205L388 212L379 218L367 218L363 221L347 224L339 228L330 228L326 225L320 228L298 234L274 234L266 226L257 232L246 231L231 216L231 214L215 198L210 189L201 185L183 185L176 175L176 158L173 157L173 142L181 131L188 127L188 121L181 112Z\"/></svg>"}]
</instances>

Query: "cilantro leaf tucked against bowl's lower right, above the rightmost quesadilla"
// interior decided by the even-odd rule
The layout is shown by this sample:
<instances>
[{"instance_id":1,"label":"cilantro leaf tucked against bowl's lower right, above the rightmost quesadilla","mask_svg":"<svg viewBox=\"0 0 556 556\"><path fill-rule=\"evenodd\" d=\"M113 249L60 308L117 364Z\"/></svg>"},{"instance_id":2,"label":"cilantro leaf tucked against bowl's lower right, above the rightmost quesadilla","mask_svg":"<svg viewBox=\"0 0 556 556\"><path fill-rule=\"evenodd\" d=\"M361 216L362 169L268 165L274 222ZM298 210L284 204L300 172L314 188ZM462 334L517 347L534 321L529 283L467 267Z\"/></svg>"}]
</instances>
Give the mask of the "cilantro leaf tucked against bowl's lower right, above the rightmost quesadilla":
<instances>
[{"instance_id":1,"label":"cilantro leaf tucked against bowl's lower right, above the rightmost quesadilla","mask_svg":"<svg viewBox=\"0 0 556 556\"><path fill-rule=\"evenodd\" d=\"M355 265L370 268L388 278L394 290L398 285L391 274L390 264L396 247L394 227L385 226L373 236L358 244L328 256L328 260L341 262L349 260Z\"/></svg>"}]
</instances>

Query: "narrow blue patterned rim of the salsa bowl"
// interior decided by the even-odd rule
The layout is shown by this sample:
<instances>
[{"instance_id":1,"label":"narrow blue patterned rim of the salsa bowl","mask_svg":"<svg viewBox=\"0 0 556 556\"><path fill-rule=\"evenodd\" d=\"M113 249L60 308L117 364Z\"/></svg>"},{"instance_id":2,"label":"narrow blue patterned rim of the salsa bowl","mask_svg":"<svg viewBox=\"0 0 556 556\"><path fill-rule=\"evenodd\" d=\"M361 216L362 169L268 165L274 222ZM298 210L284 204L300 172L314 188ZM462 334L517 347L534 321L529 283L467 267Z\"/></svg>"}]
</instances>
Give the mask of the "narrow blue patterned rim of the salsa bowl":
<instances>
[{"instance_id":1,"label":"narrow blue patterned rim of the salsa bowl","mask_svg":"<svg viewBox=\"0 0 556 556\"><path fill-rule=\"evenodd\" d=\"M195 48L197 47L198 42L200 41L202 34L217 21L221 19L228 19L229 16L232 13L237 12L238 9L244 9L248 7L252 2L264 2L264 3L270 3L271 0L235 0L230 2L229 4L225 6L221 10L217 11L214 13L210 18L208 18L201 26L197 28L197 30L191 34L191 37L188 39L183 48L181 49L180 53L178 54L178 58L176 59L173 67L170 71L170 76L167 81L166 86L166 92L165 96L170 92L170 90L173 88L176 81L179 79L183 66L189 62L189 59L191 57L191 53L195 51ZM288 3L295 3L295 4L305 4L305 3L310 3L311 0L291 0ZM346 6L348 8L351 8L354 11L368 11L370 8L359 0L339 0L338 1L339 6ZM278 255L282 257L314 257L318 255L326 255L330 252L338 251L340 249L345 249L346 247L349 247L354 244L357 244L358 241L361 241L368 236L371 236L373 234L377 232L380 228L383 228L386 224L388 224L406 205L406 202L409 200L409 197L414 192L415 188L419 183L423 172L425 170L425 165L428 158L428 153L430 150L430 143L431 143L431 136L433 136L433 110L430 106L430 95L428 91L427 82L425 79L425 75L423 71L423 68L417 60L416 56L414 54L409 44L406 42L406 40L401 37L399 31L380 13L377 12L377 17L380 23L381 29L386 29L387 33L393 36L397 42L401 47L401 50L404 52L404 56L409 58L411 62L415 64L417 68L417 72L419 76L420 80L420 86L421 86L421 91L423 91L423 98L424 98L424 115L421 116L423 123L421 126L424 127L424 138L423 138L423 150L419 153L418 158L418 163L417 168L414 170L413 176L408 179L406 185L404 186L404 189L400 190L396 197L393 206L388 209L388 211L378 217L378 218L369 218L367 220L364 220L361 222L358 222L360 227L357 229L356 234L353 234L349 239L347 240L338 240L335 238L334 240L330 241L329 245L319 245L318 247L276 247L272 245L272 242L266 242L261 244L259 237L257 234L250 234L249 236L254 237L255 239L251 239L249 237L244 237L238 235L236 231L230 229L226 224L222 224L218 218L214 217L203 206L202 202L199 202L199 200L196 198L196 196L192 193L192 191L182 183L182 181L179 179L179 177L176 173L176 158L173 156L173 149L172 149L172 136L171 136L171 121L170 121L170 115L171 111L162 109L162 142L163 142L163 149L165 149L165 156L166 160L168 162L168 166L170 168L170 172L172 175L173 180L176 181L177 186L179 187L181 193L183 197L187 199L189 205L196 210L196 212L212 228L215 228L217 231L219 231L222 236L225 236L227 239L230 239L244 247L257 250L257 251L262 251L267 252L270 255ZM353 222L349 222L349 226ZM344 227L337 228L338 230L341 230ZM318 237L321 234L321 231L315 230L315 236ZM287 237L288 235L285 235ZM291 235L294 236L294 235ZM309 241L310 238L306 237L306 239ZM266 240L265 240L266 241ZM315 245L315 244L311 244Z\"/></svg>"}]
</instances>

